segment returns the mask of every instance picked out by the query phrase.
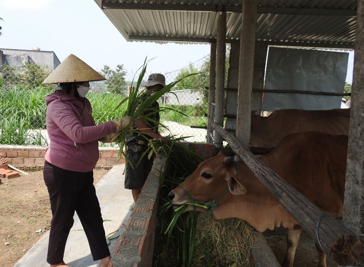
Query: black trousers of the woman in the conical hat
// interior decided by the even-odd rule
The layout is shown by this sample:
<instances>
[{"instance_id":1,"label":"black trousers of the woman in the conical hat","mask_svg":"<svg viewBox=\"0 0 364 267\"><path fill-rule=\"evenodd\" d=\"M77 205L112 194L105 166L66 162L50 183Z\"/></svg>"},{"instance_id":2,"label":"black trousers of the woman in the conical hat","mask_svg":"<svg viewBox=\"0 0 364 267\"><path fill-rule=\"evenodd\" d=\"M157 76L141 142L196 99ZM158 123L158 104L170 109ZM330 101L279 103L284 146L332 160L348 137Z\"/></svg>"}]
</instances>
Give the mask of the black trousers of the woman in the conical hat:
<instances>
[{"instance_id":1,"label":"black trousers of the woman in the conical hat","mask_svg":"<svg viewBox=\"0 0 364 267\"><path fill-rule=\"evenodd\" d=\"M49 232L48 264L63 261L75 211L85 231L94 261L110 255L93 172L79 173L44 163L43 177L48 188L52 221Z\"/></svg>"}]
</instances>

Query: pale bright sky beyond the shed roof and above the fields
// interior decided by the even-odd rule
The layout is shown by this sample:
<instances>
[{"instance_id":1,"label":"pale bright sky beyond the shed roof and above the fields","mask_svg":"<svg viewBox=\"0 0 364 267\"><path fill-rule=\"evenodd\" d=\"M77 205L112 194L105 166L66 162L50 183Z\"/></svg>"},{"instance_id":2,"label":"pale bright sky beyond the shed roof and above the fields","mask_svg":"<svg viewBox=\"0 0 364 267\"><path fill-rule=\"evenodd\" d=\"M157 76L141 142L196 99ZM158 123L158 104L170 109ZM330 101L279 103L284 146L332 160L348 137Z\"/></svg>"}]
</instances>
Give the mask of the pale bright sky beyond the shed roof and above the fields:
<instances>
[{"instance_id":1,"label":"pale bright sky beyond the shed roof and above the fields","mask_svg":"<svg viewBox=\"0 0 364 267\"><path fill-rule=\"evenodd\" d=\"M94 0L0 0L0 48L53 51L62 62L74 54L100 71L123 65L137 72L145 59L147 73L178 72L208 58L209 44L127 42ZM352 83L353 52L346 81Z\"/></svg>"}]
</instances>

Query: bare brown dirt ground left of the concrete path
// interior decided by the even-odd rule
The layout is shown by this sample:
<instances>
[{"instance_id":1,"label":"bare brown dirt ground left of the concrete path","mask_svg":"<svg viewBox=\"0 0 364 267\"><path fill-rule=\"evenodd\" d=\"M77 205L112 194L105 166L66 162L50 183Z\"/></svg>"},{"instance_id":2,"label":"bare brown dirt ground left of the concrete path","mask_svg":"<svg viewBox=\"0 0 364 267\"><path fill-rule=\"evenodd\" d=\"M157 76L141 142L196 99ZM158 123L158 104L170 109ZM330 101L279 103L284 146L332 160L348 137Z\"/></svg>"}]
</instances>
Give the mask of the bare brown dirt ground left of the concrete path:
<instances>
[{"instance_id":1,"label":"bare brown dirt ground left of the concrete path","mask_svg":"<svg viewBox=\"0 0 364 267\"><path fill-rule=\"evenodd\" d=\"M95 183L107 172L94 170ZM1 180L0 266L13 267L49 230L52 214L43 171Z\"/></svg>"}]
</instances>

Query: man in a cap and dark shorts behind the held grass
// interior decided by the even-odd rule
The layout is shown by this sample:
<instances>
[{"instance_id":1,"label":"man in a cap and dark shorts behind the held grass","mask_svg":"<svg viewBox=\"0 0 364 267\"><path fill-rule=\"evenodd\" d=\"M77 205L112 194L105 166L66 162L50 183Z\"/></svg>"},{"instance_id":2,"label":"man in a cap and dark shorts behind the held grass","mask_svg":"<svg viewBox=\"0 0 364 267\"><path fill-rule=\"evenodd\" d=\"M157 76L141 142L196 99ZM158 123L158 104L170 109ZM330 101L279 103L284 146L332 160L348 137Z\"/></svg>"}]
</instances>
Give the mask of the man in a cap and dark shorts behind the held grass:
<instances>
[{"instance_id":1,"label":"man in a cap and dark shorts behind the held grass","mask_svg":"<svg viewBox=\"0 0 364 267\"><path fill-rule=\"evenodd\" d=\"M146 87L146 93L140 97L146 98L153 92L163 89L166 86L166 79L162 74L151 74L148 81L142 82L141 86ZM138 100L137 98L136 101ZM158 102L155 101L151 108L153 110L159 108ZM151 120L139 120L133 126L134 130L139 129L143 134L133 131L132 137L127 142L128 162L126 164L124 187L132 190L134 202L137 201L154 162L154 159L148 159L148 153L145 153L148 149L148 140L146 140L145 135L147 134L150 139L160 139L167 143L167 139L158 132L158 123L155 123L159 122L159 112L150 112L149 114L143 114L143 116L148 116Z\"/></svg>"}]
</instances>

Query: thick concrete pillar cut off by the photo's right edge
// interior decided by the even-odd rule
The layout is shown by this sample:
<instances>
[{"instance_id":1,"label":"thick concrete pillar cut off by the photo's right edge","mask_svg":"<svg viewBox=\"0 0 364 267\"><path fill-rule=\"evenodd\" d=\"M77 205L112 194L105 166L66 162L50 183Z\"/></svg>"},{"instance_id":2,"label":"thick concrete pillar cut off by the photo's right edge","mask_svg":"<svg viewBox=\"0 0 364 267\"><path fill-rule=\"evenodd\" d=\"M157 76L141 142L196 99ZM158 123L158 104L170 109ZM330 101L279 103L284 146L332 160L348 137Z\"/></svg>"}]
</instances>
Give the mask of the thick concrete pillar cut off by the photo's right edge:
<instances>
[{"instance_id":1,"label":"thick concrete pillar cut off by the photo's right edge","mask_svg":"<svg viewBox=\"0 0 364 267\"><path fill-rule=\"evenodd\" d=\"M364 242L364 1L358 1L343 221ZM364 251L361 257L364 261Z\"/></svg>"}]
</instances>

